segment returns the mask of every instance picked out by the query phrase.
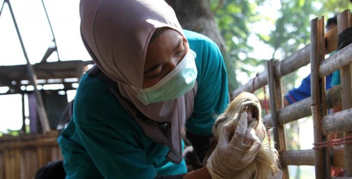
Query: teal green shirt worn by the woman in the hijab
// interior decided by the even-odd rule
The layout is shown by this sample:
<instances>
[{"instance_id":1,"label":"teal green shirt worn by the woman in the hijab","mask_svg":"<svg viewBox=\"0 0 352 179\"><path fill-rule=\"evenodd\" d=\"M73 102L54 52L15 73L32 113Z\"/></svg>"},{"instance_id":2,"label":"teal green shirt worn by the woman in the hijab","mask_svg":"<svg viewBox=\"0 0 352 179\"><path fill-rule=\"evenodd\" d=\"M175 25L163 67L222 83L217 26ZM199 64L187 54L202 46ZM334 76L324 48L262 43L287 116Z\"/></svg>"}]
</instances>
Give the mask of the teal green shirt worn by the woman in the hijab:
<instances>
[{"instance_id":1,"label":"teal green shirt worn by the woman in the hijab","mask_svg":"<svg viewBox=\"0 0 352 179\"><path fill-rule=\"evenodd\" d=\"M227 76L220 50L204 35L185 30L197 53L198 91L189 132L211 135L216 115L228 104ZM166 160L168 147L152 141L124 110L109 86L85 74L74 99L73 116L58 137L66 178L154 178L186 173L186 164Z\"/></svg>"}]
</instances>

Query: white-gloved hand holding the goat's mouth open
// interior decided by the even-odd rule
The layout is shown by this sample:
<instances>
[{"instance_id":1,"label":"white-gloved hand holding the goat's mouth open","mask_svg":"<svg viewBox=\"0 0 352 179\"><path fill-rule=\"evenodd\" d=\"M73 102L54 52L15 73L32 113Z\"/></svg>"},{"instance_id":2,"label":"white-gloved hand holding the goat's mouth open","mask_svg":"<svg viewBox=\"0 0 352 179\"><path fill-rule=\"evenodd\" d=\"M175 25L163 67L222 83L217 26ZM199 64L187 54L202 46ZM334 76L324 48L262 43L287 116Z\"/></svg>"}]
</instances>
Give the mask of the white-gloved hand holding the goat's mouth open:
<instances>
[{"instance_id":1,"label":"white-gloved hand holding the goat's mouth open","mask_svg":"<svg viewBox=\"0 0 352 179\"><path fill-rule=\"evenodd\" d=\"M213 179L229 178L244 169L262 147L255 130L247 128L247 112L241 114L236 131L235 124L235 119L225 124L218 145L207 160L206 168Z\"/></svg>"}]
</instances>

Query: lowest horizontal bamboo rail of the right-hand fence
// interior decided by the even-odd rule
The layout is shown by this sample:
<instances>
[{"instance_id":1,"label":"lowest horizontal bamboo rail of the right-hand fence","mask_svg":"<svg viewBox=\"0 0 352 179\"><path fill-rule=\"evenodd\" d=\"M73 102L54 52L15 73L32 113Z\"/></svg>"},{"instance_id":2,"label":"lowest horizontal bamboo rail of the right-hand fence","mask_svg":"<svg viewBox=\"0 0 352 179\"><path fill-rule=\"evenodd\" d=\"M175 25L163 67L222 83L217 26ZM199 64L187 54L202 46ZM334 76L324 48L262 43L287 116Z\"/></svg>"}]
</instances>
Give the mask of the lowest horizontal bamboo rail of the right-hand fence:
<instances>
[{"instance_id":1,"label":"lowest horizontal bamboo rail of the right-hand fence","mask_svg":"<svg viewBox=\"0 0 352 179\"><path fill-rule=\"evenodd\" d=\"M330 155L333 157L331 166L345 166L345 152L343 148L332 148ZM281 151L281 162L283 165L309 165L314 166L314 150L288 150Z\"/></svg>"}]
</instances>

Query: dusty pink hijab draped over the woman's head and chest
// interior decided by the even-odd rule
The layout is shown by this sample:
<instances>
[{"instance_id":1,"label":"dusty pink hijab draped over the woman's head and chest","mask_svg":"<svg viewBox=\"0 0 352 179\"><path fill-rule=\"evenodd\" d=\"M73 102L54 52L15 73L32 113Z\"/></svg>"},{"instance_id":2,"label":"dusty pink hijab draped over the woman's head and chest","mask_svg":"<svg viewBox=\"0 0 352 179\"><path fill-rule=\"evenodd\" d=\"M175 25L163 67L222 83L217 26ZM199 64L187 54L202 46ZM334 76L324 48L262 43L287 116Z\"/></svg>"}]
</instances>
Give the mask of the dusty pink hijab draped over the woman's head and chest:
<instances>
[{"instance_id":1,"label":"dusty pink hijab draped over the woman's head and chest","mask_svg":"<svg viewBox=\"0 0 352 179\"><path fill-rule=\"evenodd\" d=\"M168 160L180 163L181 129L193 113L197 83L174 100L149 105L131 87L142 88L147 46L159 27L184 36L173 9L163 0L81 0L82 39L95 64L118 82L119 89L111 91L148 137L169 147Z\"/></svg>"}]
</instances>

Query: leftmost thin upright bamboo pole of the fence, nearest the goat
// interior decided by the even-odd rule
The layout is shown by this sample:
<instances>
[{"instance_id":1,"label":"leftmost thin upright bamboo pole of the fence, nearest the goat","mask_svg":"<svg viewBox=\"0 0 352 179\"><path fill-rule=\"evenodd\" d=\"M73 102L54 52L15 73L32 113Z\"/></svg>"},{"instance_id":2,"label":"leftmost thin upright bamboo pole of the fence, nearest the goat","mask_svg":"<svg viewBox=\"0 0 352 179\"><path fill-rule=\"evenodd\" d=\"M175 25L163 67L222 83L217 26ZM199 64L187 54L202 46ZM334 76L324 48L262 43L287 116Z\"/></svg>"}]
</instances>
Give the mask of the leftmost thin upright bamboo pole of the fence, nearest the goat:
<instances>
[{"instance_id":1,"label":"leftmost thin upright bamboo pole of the fence, nearest the goat","mask_svg":"<svg viewBox=\"0 0 352 179\"><path fill-rule=\"evenodd\" d=\"M275 141L275 149L278 151L286 151L285 130L283 125L279 125L278 111L283 107L282 93L281 93L281 79L275 78L275 64L274 59L267 61L269 95L270 95L270 112L272 116L273 136ZM288 168L282 165L281 170L284 173L283 178L288 179Z\"/></svg>"}]
</instances>

